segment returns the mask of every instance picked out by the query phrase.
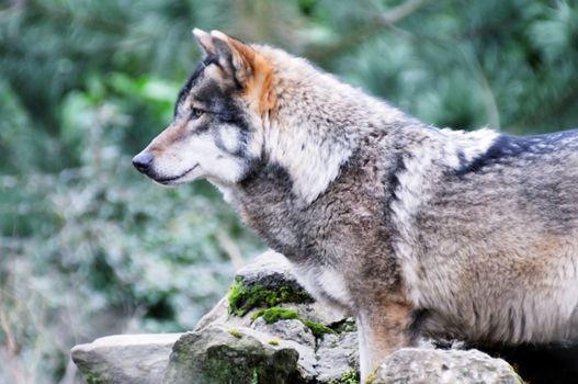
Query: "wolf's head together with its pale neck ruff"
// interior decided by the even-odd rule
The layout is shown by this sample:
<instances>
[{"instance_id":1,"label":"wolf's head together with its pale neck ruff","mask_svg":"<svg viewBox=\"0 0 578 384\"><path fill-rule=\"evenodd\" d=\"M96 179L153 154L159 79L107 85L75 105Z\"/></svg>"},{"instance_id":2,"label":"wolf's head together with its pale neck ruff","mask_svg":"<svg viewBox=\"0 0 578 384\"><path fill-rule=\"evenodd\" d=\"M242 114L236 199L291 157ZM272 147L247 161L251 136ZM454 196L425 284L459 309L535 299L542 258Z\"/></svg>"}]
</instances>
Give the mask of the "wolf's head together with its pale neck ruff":
<instances>
[{"instance_id":1,"label":"wolf's head together with its pale neck ruff","mask_svg":"<svg viewBox=\"0 0 578 384\"><path fill-rule=\"evenodd\" d=\"M307 204L364 137L406 118L282 49L218 31L193 34L204 59L179 94L173 122L133 159L158 183L204 178L230 191L248 176L277 169Z\"/></svg>"}]
</instances>

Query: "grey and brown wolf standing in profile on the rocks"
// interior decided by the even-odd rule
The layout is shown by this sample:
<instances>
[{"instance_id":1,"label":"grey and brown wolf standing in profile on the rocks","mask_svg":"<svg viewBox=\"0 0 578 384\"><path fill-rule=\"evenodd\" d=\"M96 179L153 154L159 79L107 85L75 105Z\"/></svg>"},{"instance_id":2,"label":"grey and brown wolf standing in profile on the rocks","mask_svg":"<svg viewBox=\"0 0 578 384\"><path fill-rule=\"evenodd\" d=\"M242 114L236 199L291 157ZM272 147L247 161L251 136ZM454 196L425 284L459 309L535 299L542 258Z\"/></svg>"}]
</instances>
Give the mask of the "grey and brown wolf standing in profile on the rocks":
<instances>
[{"instance_id":1,"label":"grey and brown wolf standing in profile on the rocks","mask_svg":"<svg viewBox=\"0 0 578 384\"><path fill-rule=\"evenodd\" d=\"M219 31L134 166L207 179L356 318L367 375L419 336L578 337L578 132L437 128L307 60Z\"/></svg>"}]
</instances>

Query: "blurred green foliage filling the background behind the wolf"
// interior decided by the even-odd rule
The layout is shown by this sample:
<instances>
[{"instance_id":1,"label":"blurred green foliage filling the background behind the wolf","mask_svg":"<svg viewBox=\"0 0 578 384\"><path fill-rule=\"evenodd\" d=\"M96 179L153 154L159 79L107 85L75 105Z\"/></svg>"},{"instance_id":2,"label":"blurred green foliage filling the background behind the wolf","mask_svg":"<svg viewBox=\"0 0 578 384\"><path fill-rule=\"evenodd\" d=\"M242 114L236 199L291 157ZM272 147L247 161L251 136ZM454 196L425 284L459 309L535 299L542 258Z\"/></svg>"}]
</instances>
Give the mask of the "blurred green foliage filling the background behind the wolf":
<instances>
[{"instance_id":1,"label":"blurred green foliage filling the background behind the wolf","mask_svg":"<svg viewBox=\"0 0 578 384\"><path fill-rule=\"evenodd\" d=\"M0 1L0 383L71 383L76 343L191 328L262 248L209 185L131 166L199 60L193 26L439 126L578 124L573 0Z\"/></svg>"}]
</instances>

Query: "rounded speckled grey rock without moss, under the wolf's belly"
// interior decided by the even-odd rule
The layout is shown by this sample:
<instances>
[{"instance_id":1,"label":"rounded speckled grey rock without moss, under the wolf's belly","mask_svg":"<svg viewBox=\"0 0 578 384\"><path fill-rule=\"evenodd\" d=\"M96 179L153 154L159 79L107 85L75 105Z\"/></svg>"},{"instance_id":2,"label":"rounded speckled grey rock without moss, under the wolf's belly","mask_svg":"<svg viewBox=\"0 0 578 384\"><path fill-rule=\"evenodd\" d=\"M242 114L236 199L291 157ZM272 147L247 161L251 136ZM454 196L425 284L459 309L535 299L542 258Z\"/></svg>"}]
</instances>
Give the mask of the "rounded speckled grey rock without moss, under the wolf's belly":
<instances>
[{"instance_id":1,"label":"rounded speckled grey rock without moss, under the wolf's belly","mask_svg":"<svg viewBox=\"0 0 578 384\"><path fill-rule=\"evenodd\" d=\"M372 384L521 384L506 361L478 350L404 348L389 355Z\"/></svg>"}]
</instances>

